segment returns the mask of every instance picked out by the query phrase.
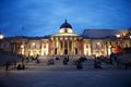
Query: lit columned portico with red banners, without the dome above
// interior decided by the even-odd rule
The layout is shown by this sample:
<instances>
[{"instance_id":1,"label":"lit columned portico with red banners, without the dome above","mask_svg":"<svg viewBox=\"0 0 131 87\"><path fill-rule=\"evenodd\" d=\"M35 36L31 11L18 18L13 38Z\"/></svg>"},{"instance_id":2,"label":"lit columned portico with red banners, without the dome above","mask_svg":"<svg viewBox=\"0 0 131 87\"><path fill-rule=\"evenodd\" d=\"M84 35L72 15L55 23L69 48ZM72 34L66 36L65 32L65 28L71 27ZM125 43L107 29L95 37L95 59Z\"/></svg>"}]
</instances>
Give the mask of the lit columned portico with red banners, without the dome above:
<instances>
[{"instance_id":1,"label":"lit columned portico with red banners, without the dome above","mask_svg":"<svg viewBox=\"0 0 131 87\"><path fill-rule=\"evenodd\" d=\"M52 35L50 37L50 54L69 54L69 55L74 55L74 54L81 54L81 48L82 48L82 37L81 36L61 36L58 35Z\"/></svg>"}]
</instances>

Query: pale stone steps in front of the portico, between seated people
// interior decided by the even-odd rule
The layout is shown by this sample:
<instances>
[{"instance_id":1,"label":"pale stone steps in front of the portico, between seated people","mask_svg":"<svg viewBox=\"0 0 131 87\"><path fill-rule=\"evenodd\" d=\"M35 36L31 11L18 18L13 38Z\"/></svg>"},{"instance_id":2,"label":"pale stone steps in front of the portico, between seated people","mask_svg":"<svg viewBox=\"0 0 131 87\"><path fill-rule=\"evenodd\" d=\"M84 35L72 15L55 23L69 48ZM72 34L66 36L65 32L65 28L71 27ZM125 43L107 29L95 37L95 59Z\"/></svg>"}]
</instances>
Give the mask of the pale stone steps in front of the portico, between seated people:
<instances>
[{"instance_id":1,"label":"pale stone steps in front of the portico, between seated people","mask_svg":"<svg viewBox=\"0 0 131 87\"><path fill-rule=\"evenodd\" d=\"M47 62L49 59L53 59L55 64L52 65L47 65ZM55 57L39 57L40 63L36 63L35 61L32 61L29 63L26 63L27 70L60 70L60 71L66 71L66 70L76 70L76 65L74 63L75 60L79 58L76 57L69 57L69 62L67 65L63 65L63 57L60 57L60 60L56 60ZM94 60L85 60L82 62L83 67L85 69L93 69L94 65Z\"/></svg>"}]
</instances>

